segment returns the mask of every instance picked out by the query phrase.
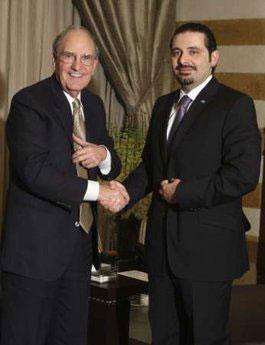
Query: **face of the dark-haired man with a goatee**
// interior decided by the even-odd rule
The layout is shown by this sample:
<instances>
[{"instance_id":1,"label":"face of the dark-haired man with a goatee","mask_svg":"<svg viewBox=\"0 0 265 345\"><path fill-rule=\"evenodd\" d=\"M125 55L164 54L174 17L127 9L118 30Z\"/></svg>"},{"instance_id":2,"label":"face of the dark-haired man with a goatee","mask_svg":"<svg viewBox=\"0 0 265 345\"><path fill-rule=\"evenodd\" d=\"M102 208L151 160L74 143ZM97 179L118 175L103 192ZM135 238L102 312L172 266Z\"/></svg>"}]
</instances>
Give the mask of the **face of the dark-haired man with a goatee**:
<instances>
[{"instance_id":1,"label":"face of the dark-haired man with a goatee","mask_svg":"<svg viewBox=\"0 0 265 345\"><path fill-rule=\"evenodd\" d=\"M201 32L186 31L173 38L172 69L184 91L190 91L204 82L212 74L218 58L217 50L209 53L205 35Z\"/></svg>"}]
</instances>

